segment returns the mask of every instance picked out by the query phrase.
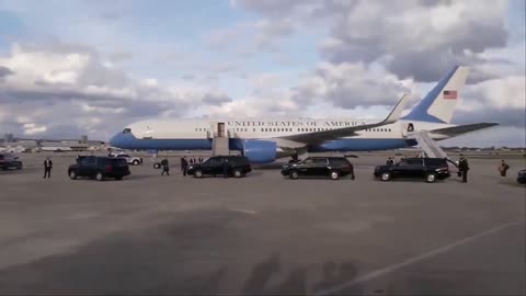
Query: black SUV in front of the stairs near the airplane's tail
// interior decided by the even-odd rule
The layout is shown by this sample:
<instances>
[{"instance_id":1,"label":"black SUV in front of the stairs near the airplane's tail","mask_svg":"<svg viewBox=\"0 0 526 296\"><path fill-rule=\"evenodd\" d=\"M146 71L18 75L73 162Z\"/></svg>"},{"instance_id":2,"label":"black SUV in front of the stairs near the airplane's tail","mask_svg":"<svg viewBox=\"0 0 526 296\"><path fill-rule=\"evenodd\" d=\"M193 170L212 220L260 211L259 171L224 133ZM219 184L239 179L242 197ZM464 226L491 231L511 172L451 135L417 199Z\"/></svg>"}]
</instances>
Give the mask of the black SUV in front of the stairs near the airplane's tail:
<instances>
[{"instance_id":1,"label":"black SUV in front of the stairs near the airplane's tail","mask_svg":"<svg viewBox=\"0 0 526 296\"><path fill-rule=\"evenodd\" d=\"M445 158L405 158L392 166L378 166L375 177L381 181L391 179L424 179L428 183L449 178L449 167Z\"/></svg>"}]
</instances>

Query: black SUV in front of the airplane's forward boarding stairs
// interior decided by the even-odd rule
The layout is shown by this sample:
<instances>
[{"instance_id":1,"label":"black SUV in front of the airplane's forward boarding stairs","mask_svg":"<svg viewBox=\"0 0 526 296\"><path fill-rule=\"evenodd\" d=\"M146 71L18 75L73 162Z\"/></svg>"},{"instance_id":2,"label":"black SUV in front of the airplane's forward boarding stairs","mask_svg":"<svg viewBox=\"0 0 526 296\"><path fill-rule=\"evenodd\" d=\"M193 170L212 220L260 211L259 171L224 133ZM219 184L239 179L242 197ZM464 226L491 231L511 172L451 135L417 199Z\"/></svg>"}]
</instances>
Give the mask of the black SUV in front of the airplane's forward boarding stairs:
<instances>
[{"instance_id":1,"label":"black SUV in front of the airplane's forward boarding stairs","mask_svg":"<svg viewBox=\"0 0 526 296\"><path fill-rule=\"evenodd\" d=\"M241 178L252 171L249 159L243 156L216 156L202 163L190 164L186 172L195 178L222 175L225 161L228 161L228 175Z\"/></svg>"}]
</instances>

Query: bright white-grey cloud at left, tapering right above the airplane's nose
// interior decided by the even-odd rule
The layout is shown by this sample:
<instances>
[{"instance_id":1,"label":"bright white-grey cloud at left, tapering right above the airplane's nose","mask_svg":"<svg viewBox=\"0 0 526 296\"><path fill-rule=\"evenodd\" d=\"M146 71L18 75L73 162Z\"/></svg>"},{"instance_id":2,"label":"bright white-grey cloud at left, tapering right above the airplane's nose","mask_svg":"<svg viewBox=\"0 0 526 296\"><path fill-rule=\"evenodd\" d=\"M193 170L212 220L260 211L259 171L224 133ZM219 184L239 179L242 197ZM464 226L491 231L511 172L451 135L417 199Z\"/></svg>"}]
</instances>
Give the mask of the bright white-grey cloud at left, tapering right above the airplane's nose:
<instances>
[{"instance_id":1,"label":"bright white-grey cloud at left, tapering right above the airplane's nose","mask_svg":"<svg viewBox=\"0 0 526 296\"><path fill-rule=\"evenodd\" d=\"M85 46L15 44L9 55L0 56L0 64L5 65L0 126L27 136L70 126L75 133L107 138L114 133L108 127L231 101L218 90L132 78L105 66L101 55Z\"/></svg>"}]
</instances>

